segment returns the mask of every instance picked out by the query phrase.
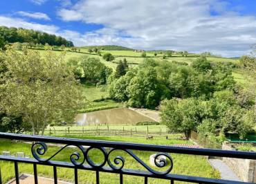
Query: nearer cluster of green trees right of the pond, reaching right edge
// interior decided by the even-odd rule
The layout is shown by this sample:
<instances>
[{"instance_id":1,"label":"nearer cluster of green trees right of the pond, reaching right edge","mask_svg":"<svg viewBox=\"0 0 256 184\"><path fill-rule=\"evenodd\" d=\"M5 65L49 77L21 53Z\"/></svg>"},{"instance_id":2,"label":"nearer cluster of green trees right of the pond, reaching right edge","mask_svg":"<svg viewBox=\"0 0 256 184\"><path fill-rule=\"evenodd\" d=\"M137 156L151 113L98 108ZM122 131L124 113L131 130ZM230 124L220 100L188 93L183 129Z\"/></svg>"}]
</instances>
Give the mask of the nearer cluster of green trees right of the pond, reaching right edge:
<instances>
[{"instance_id":1,"label":"nearer cluster of green trees right of the pond, reaching right edge","mask_svg":"<svg viewBox=\"0 0 256 184\"><path fill-rule=\"evenodd\" d=\"M253 106L244 109L239 106L235 93L217 91L213 98L172 99L161 102L161 118L170 130L198 131L205 137L215 137L218 142L225 140L228 132L244 138L253 130L256 120Z\"/></svg>"}]
</instances>

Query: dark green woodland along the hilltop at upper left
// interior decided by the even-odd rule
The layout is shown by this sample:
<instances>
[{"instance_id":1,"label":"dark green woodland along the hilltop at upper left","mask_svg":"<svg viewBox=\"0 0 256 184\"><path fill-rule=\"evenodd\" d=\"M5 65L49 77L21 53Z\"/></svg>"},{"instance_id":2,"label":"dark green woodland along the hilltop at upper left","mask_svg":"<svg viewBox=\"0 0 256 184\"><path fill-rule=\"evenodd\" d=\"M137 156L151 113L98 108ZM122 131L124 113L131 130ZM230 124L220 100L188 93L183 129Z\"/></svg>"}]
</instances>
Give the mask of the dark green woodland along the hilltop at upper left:
<instances>
[{"instance_id":1,"label":"dark green woodland along the hilltop at upper left","mask_svg":"<svg viewBox=\"0 0 256 184\"><path fill-rule=\"evenodd\" d=\"M29 44L49 44L50 46L74 46L73 42L66 40L64 37L50 35L37 30L24 28L8 28L0 26L0 39L5 44L8 43L29 43Z\"/></svg>"}]
</instances>

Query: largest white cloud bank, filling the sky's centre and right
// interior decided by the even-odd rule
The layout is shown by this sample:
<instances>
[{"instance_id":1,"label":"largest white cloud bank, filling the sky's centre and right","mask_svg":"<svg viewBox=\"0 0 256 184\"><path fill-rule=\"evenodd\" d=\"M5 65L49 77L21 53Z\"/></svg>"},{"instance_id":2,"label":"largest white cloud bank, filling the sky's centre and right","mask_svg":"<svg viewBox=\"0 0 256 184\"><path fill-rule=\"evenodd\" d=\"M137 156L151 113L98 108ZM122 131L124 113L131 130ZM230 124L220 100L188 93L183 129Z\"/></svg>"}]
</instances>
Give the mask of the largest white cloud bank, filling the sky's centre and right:
<instances>
[{"instance_id":1,"label":"largest white cloud bank, filling the sky's centre and right","mask_svg":"<svg viewBox=\"0 0 256 184\"><path fill-rule=\"evenodd\" d=\"M219 0L80 0L71 8L59 10L58 15L64 21L104 26L76 35L75 43L80 45L207 50L235 56L248 53L250 45L256 42L255 17L241 16Z\"/></svg>"}]
</instances>

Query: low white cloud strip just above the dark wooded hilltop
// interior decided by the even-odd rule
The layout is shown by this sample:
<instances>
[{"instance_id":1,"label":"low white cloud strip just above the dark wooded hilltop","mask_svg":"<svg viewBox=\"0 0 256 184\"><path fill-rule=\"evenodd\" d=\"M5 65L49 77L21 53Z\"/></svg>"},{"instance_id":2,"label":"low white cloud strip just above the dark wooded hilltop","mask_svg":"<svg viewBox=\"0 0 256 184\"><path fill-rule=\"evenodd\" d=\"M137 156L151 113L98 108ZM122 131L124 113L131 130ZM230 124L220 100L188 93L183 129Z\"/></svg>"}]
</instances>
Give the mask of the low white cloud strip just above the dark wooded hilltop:
<instances>
[{"instance_id":1,"label":"low white cloud strip just above the dark wooded hilltop","mask_svg":"<svg viewBox=\"0 0 256 184\"><path fill-rule=\"evenodd\" d=\"M4 16L0 16L0 26L40 30L50 34L55 34L60 29L54 25L37 24L33 22L24 21L24 19L17 19Z\"/></svg>"}]
</instances>

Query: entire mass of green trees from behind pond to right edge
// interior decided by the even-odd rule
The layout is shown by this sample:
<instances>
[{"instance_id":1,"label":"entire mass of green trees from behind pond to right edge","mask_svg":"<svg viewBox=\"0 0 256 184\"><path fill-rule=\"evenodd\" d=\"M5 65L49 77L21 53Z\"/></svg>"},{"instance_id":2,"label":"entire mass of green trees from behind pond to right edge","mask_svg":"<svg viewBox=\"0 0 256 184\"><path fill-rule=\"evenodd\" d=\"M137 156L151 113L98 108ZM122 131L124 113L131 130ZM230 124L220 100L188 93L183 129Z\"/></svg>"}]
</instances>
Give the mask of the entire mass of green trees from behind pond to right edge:
<instances>
[{"instance_id":1,"label":"entire mass of green trees from behind pond to right edge","mask_svg":"<svg viewBox=\"0 0 256 184\"><path fill-rule=\"evenodd\" d=\"M186 138L192 130L216 142L230 132L244 138L256 122L255 91L241 89L232 68L205 56L190 66L145 59L128 68L120 62L109 76L109 95L131 107L160 109L170 131Z\"/></svg>"}]
</instances>

